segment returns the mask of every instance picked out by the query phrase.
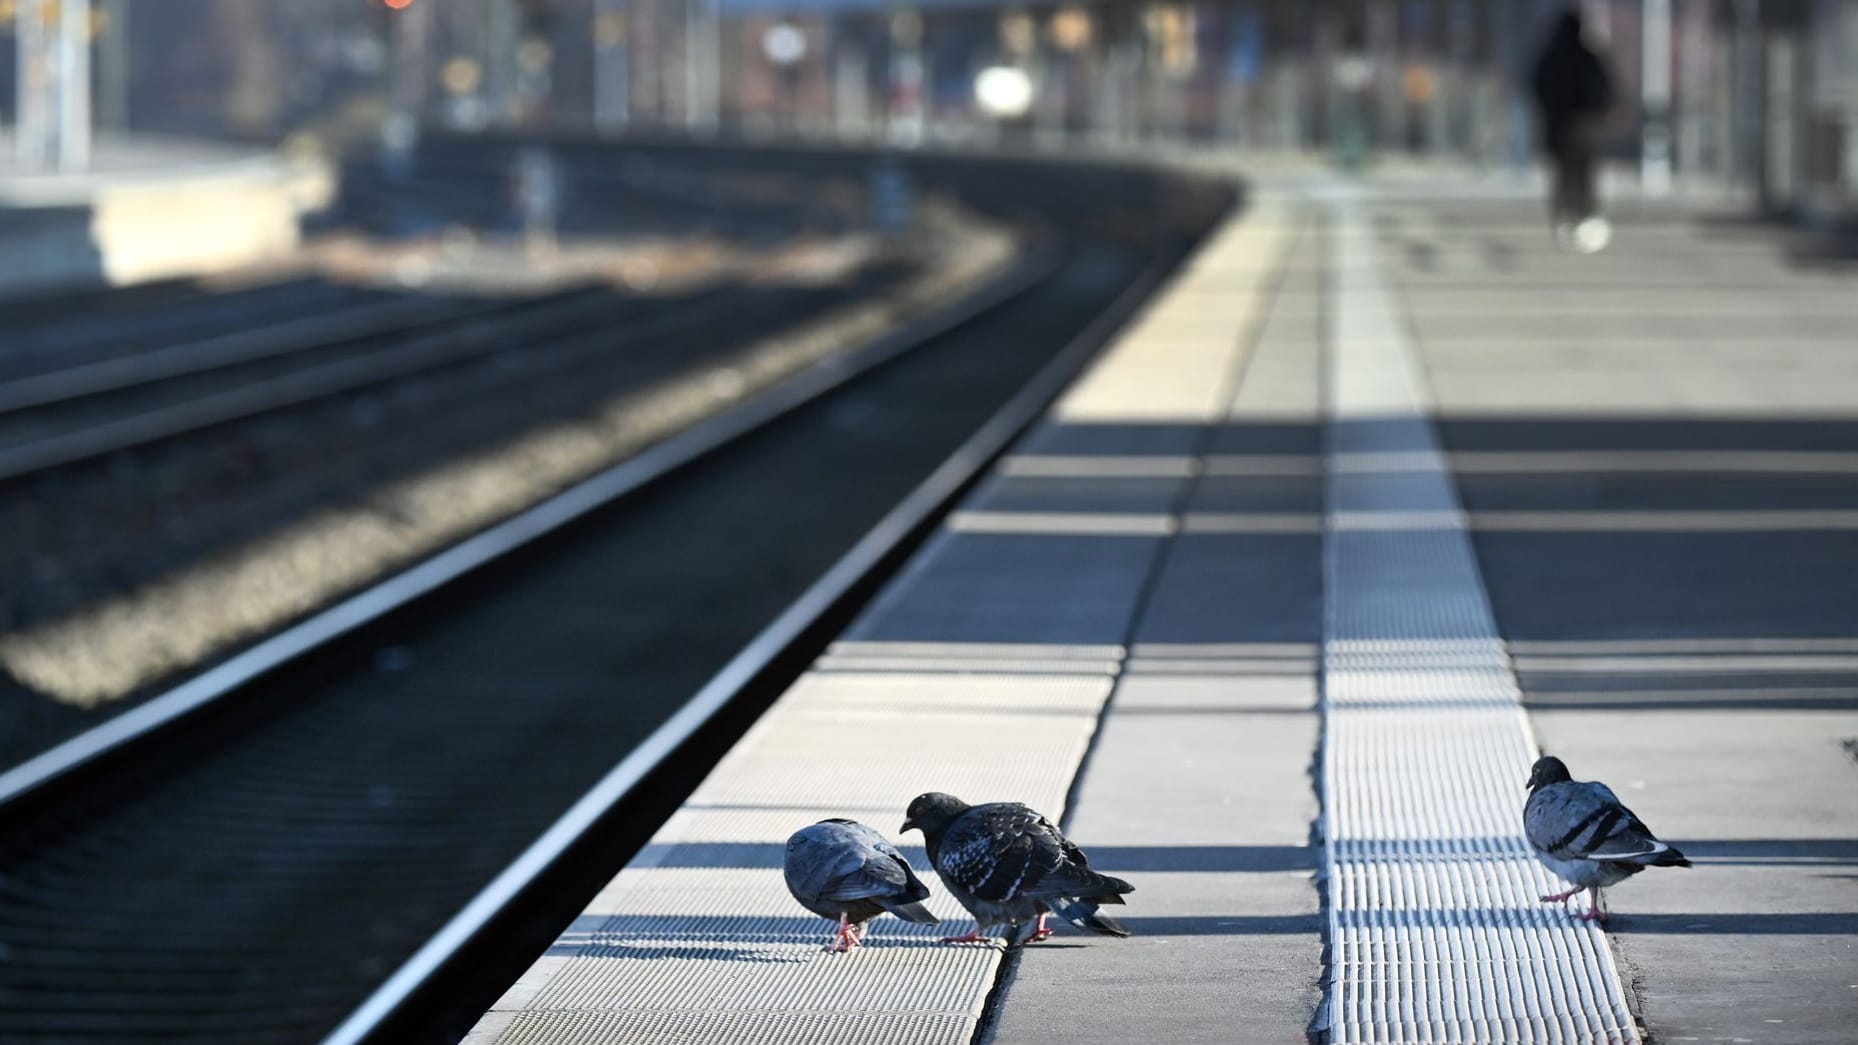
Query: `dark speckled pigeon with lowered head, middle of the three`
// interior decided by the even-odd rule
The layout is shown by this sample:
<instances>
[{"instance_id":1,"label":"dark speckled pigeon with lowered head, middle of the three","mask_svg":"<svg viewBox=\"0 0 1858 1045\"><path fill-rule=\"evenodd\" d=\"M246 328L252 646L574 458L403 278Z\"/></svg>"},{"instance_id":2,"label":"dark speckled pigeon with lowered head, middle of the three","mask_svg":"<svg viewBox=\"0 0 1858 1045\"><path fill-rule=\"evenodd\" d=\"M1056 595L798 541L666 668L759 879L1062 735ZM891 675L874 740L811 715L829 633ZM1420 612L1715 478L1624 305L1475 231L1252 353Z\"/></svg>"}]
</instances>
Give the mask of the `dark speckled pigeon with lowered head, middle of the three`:
<instances>
[{"instance_id":1,"label":"dark speckled pigeon with lowered head, middle of the three","mask_svg":"<svg viewBox=\"0 0 1858 1045\"><path fill-rule=\"evenodd\" d=\"M1083 850L1018 801L968 805L942 792L910 801L903 831L920 829L942 885L974 915L974 932L942 943L1037 943L1052 930L1046 915L1104 935L1130 935L1100 904L1122 904L1135 887L1091 870Z\"/></svg>"}]
</instances>

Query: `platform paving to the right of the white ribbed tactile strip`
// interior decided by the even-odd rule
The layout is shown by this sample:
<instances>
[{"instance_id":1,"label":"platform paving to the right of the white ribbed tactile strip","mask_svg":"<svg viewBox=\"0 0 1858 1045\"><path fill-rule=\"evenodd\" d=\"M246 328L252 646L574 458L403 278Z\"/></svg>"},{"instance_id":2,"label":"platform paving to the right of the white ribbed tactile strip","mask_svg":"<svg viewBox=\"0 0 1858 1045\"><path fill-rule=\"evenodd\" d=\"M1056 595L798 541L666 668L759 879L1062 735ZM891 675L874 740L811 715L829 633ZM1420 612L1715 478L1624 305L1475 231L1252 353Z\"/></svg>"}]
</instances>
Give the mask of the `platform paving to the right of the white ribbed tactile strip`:
<instances>
[{"instance_id":1,"label":"platform paving to the right of the white ribbed tactile strip","mask_svg":"<svg viewBox=\"0 0 1858 1045\"><path fill-rule=\"evenodd\" d=\"M1648 1036L1854 1039L1858 268L1711 214L1594 257L1522 203L1377 221L1538 738L1696 861L1609 894Z\"/></svg>"}]
</instances>

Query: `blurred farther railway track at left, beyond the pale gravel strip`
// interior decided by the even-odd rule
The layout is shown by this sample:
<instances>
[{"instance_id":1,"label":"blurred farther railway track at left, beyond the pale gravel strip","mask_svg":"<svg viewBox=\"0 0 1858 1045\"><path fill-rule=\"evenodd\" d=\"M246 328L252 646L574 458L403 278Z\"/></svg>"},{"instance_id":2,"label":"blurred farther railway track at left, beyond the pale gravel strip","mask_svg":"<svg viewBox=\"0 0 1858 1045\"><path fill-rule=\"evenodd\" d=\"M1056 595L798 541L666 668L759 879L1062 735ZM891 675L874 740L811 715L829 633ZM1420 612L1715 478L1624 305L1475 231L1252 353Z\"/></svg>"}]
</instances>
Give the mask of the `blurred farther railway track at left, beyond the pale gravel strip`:
<instances>
[{"instance_id":1,"label":"blurred farther railway track at left, beyond the pale gravel strip","mask_svg":"<svg viewBox=\"0 0 1858 1045\"><path fill-rule=\"evenodd\" d=\"M500 208L494 169L453 162L451 180L373 184L392 205L433 197L444 214L489 221ZM606 179L606 180L602 180ZM700 210L767 240L793 234L792 216L775 227L765 203L736 205L726 195L695 203L689 193L613 182L591 171L572 216L576 231L613 212L641 208ZM455 203L466 199L470 206ZM373 197L370 197L373 199ZM381 201L375 201L381 203ZM353 201L351 208L357 206ZM660 214L667 229L689 231L691 214ZM860 288L870 292L870 286ZM574 363L602 351L600 331L617 337L604 351L699 331L723 311L752 312L779 324L782 309L814 312L834 301L810 296L799 305L769 305L749 296L725 305L713 288L671 301L628 298L578 286L535 298L472 299L448 294L388 294L312 277L243 286L216 296L162 286L102 296L100 314L46 312L24 303L20 324L0 353L0 483L177 435L399 381L489 355L550 355ZM72 301L82 301L74 298ZM108 305L115 307L108 307ZM6 309L0 307L0 318Z\"/></svg>"}]
</instances>

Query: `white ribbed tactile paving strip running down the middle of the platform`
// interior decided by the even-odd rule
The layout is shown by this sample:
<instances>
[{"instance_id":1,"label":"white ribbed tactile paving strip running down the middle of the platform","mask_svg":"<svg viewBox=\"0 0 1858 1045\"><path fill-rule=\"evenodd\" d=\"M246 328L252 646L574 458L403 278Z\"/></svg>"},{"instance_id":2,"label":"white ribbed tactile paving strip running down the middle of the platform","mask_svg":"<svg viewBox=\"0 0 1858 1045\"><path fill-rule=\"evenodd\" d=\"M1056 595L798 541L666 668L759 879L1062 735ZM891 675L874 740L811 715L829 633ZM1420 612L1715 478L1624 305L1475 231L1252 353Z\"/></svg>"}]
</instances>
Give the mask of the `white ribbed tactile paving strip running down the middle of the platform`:
<instances>
[{"instance_id":1,"label":"white ribbed tactile paving strip running down the middle of the platform","mask_svg":"<svg viewBox=\"0 0 1858 1045\"><path fill-rule=\"evenodd\" d=\"M1538 902L1561 885L1522 837L1535 740L1353 201L1328 245L1330 1041L1635 1043L1605 935Z\"/></svg>"}]
</instances>

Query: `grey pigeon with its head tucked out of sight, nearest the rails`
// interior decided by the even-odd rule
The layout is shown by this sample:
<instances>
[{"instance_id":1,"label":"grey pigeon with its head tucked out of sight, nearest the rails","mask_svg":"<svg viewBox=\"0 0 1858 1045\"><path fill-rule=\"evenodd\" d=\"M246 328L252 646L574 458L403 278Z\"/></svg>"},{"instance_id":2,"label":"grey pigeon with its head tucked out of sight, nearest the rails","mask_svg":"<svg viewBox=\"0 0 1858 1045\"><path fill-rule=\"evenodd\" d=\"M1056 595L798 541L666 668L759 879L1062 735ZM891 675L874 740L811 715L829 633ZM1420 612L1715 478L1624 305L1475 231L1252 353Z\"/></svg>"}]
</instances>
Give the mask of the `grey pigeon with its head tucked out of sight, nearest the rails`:
<instances>
[{"instance_id":1,"label":"grey pigeon with its head tucked out of sight, nearest the rails","mask_svg":"<svg viewBox=\"0 0 1858 1045\"><path fill-rule=\"evenodd\" d=\"M788 893L821 919L838 919L827 950L864 943L864 924L890 911L907 922L933 926L940 919L922 906L929 898L910 861L883 835L857 820L821 820L788 839Z\"/></svg>"}]
</instances>

